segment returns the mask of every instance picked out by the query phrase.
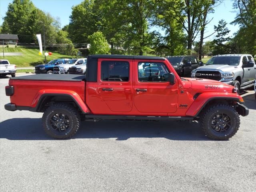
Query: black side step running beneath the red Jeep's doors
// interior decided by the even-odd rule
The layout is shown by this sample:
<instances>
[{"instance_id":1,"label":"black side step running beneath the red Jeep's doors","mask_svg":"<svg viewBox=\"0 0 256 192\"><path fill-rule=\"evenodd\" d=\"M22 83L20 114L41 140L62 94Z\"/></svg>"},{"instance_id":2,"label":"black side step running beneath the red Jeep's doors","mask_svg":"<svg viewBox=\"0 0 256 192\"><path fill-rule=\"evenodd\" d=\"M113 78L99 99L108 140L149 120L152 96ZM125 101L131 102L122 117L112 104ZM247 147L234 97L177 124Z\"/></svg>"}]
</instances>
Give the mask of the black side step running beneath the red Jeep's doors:
<instances>
[{"instance_id":1,"label":"black side step running beneath the red Jeep's doors","mask_svg":"<svg viewBox=\"0 0 256 192\"><path fill-rule=\"evenodd\" d=\"M176 116L134 116L134 115L93 115L86 114L86 120L99 121L102 119L108 120L157 120L157 121L179 121L179 120L194 120L194 117L176 117Z\"/></svg>"}]
</instances>

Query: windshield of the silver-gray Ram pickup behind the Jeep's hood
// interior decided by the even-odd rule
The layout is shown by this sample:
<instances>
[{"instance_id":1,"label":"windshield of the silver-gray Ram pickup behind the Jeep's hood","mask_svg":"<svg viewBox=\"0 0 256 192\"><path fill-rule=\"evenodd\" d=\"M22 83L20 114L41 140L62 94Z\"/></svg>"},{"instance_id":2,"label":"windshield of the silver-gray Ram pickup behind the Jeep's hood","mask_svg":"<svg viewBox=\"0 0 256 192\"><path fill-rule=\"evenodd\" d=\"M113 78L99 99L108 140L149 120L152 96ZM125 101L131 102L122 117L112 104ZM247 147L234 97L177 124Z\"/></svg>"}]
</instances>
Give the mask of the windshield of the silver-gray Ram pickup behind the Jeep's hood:
<instances>
[{"instance_id":1,"label":"windshield of the silver-gray Ram pickup behind the Jeep's hood","mask_svg":"<svg viewBox=\"0 0 256 192\"><path fill-rule=\"evenodd\" d=\"M240 56L219 56L212 57L206 65L238 65L240 62Z\"/></svg>"}]
</instances>

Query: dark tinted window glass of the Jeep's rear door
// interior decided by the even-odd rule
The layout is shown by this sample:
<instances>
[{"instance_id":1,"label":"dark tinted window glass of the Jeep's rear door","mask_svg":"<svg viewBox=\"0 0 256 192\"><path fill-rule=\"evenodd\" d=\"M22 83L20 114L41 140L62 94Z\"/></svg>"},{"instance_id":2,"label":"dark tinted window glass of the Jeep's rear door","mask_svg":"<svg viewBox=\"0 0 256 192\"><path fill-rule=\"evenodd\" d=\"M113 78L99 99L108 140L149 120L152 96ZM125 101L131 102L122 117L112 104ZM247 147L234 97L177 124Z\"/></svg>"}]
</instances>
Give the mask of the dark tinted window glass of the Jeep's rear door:
<instances>
[{"instance_id":1,"label":"dark tinted window glass of the Jeep's rear door","mask_svg":"<svg viewBox=\"0 0 256 192\"><path fill-rule=\"evenodd\" d=\"M127 61L102 61L100 78L102 81L129 81L130 64Z\"/></svg>"}]
</instances>

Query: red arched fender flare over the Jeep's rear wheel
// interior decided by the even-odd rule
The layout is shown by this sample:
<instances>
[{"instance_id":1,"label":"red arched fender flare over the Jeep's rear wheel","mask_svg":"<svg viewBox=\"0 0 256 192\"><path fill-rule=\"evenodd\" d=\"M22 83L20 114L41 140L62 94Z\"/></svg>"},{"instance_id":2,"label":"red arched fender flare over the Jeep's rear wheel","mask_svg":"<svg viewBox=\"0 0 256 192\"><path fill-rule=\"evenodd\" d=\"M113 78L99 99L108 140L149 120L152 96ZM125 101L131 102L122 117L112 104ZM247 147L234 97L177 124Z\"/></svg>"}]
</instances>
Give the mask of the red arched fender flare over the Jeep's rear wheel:
<instances>
[{"instance_id":1,"label":"red arched fender flare over the Jeep's rear wheel","mask_svg":"<svg viewBox=\"0 0 256 192\"><path fill-rule=\"evenodd\" d=\"M31 108L35 108L36 110L39 108L40 102L44 98L44 96L58 96L58 95L65 95L69 96L76 102L78 107L81 109L83 113L90 113L90 109L86 106L82 98L74 91L71 90L58 90L58 89L44 89L40 90L36 93L34 97Z\"/></svg>"}]
</instances>

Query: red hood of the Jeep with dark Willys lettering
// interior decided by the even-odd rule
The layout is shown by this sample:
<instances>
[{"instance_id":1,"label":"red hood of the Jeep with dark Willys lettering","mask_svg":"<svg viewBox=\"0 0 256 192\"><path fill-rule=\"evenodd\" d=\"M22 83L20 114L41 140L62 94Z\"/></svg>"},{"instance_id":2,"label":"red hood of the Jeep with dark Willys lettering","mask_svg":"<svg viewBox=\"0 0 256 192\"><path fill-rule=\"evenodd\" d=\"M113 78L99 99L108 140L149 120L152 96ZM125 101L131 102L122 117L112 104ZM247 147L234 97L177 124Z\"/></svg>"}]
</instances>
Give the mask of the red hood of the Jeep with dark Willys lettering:
<instances>
[{"instance_id":1,"label":"red hood of the Jeep with dark Willys lettering","mask_svg":"<svg viewBox=\"0 0 256 192\"><path fill-rule=\"evenodd\" d=\"M192 89L204 89L204 90L224 90L227 92L232 92L233 86L228 85L219 81L210 79L198 79L198 78L185 78L189 80L192 84Z\"/></svg>"}]
</instances>

